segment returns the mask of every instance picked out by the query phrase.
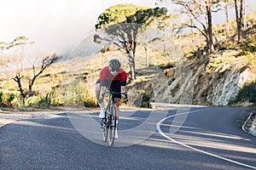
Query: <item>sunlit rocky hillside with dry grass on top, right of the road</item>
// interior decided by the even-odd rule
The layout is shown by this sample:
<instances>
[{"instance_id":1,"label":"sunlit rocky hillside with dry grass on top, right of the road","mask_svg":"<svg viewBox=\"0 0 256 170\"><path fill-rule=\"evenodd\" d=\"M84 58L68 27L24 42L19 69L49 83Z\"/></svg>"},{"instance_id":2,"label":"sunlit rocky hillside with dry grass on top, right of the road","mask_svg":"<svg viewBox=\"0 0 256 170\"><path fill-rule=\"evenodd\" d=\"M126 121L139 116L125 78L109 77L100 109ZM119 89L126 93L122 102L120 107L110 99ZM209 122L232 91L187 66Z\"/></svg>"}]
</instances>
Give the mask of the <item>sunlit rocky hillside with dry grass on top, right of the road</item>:
<instances>
[{"instance_id":1,"label":"sunlit rocky hillside with dry grass on top, right of the road","mask_svg":"<svg viewBox=\"0 0 256 170\"><path fill-rule=\"evenodd\" d=\"M250 37L240 45L219 48L210 55L187 54L169 68L163 66L163 74L153 67L140 70L138 74L143 81L131 84L131 89L141 89L143 97L140 98L144 103L148 99L148 102L174 104L255 105L255 27L250 28ZM248 42L251 51L244 46ZM150 77L145 78L147 75Z\"/></svg>"}]
</instances>

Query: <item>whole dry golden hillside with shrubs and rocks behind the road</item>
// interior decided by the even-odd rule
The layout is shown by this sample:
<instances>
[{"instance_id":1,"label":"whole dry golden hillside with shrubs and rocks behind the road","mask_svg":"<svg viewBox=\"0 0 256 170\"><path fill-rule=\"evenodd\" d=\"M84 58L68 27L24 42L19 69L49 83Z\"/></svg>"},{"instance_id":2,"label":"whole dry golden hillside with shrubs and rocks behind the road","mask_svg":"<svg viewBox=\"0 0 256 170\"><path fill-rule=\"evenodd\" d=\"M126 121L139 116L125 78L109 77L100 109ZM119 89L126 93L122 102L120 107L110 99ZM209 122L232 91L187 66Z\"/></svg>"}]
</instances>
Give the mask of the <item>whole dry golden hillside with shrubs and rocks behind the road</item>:
<instances>
[{"instance_id":1,"label":"whole dry golden hillside with shrubs and rocks behind the road","mask_svg":"<svg viewBox=\"0 0 256 170\"><path fill-rule=\"evenodd\" d=\"M255 14L248 15L251 17ZM249 20L249 18L248 18ZM231 24L235 26L235 22ZM239 88L230 93L230 98L224 98L227 105L255 105L256 103L256 25L247 27L244 31L244 41L234 43L234 37L223 41L224 25L214 28L218 47L210 55L191 45L191 36L183 35L183 43L169 42L168 48L173 48L167 54L160 48L149 48L149 66L146 65L146 52L143 46L137 48L136 68L137 80L129 80L130 105L148 107L149 102L193 103L195 105L224 105L218 103L218 85L232 85L237 77ZM169 38L171 39L171 38ZM202 38L197 38L200 41ZM152 47L163 45L163 39L155 38L150 42ZM197 42L200 44L200 42ZM203 45L203 41L201 41ZM180 50L177 50L180 48ZM115 48L108 47L104 53L91 56L78 56L61 63L51 65L33 87L35 95L26 99L26 106L76 106L95 107L94 84L98 73L108 59L117 58L129 71L128 59ZM25 69L25 75L31 74L31 69ZM2 106L22 106L17 84L5 73L0 76L0 104ZM181 77L183 76L183 77ZM187 80L186 78L190 78ZM230 79L227 81L227 77ZM239 78L240 77L240 78ZM233 79L232 79L233 78ZM186 82L183 82L187 80ZM193 81L192 81L193 80ZM22 79L26 84L28 79ZM226 81L226 82L225 82ZM194 83L193 85L190 83ZM165 86L166 83L166 86ZM232 85L233 86L233 85ZM189 87L189 88L188 88ZM220 89L219 89L220 90ZM185 95L193 91L193 96ZM236 94L236 95L235 95ZM214 97L215 96L215 97ZM186 99L192 99L188 101ZM217 102L217 103L214 103ZM223 102L223 101L222 101Z\"/></svg>"}]
</instances>

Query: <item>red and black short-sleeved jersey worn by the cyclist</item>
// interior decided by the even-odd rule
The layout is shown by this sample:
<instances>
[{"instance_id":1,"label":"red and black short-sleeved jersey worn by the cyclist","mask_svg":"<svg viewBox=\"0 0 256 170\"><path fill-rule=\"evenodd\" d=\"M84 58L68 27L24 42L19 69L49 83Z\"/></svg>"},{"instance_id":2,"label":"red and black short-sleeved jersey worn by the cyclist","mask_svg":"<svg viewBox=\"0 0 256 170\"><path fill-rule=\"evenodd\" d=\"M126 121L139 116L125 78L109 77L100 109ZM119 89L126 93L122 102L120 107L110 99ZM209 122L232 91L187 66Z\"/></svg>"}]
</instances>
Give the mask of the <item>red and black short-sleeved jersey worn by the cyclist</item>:
<instances>
[{"instance_id":1,"label":"red and black short-sleeved jersey worn by the cyclist","mask_svg":"<svg viewBox=\"0 0 256 170\"><path fill-rule=\"evenodd\" d=\"M110 87L113 82L119 86L125 86L126 80L127 74L122 68L119 68L119 74L116 77L111 74L108 66L103 67L100 72L101 86Z\"/></svg>"}]
</instances>

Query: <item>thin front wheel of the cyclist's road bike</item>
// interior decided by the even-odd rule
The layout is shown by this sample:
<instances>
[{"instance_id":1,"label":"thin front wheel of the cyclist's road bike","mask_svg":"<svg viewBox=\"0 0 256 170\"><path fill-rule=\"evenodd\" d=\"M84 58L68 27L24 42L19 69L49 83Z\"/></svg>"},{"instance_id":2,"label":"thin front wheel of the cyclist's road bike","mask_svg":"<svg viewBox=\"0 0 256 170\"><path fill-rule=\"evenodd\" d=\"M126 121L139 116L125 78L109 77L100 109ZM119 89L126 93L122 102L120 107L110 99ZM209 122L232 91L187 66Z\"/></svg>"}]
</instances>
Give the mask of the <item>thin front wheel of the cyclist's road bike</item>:
<instances>
[{"instance_id":1,"label":"thin front wheel of the cyclist's road bike","mask_svg":"<svg viewBox=\"0 0 256 170\"><path fill-rule=\"evenodd\" d=\"M109 128L108 128L108 144L113 146L116 131L116 109L113 106L111 115L109 116Z\"/></svg>"}]
</instances>

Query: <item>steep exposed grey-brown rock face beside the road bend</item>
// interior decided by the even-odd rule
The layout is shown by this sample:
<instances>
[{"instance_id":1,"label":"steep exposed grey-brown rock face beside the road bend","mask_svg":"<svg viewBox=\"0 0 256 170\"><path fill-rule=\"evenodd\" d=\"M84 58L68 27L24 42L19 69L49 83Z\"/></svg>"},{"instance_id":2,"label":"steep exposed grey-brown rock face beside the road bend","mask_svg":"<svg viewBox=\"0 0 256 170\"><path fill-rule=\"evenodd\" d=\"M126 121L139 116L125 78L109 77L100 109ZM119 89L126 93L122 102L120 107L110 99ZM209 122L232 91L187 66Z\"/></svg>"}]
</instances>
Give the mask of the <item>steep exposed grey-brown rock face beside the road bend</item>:
<instances>
[{"instance_id":1,"label":"steep exposed grey-brown rock face beside the road bend","mask_svg":"<svg viewBox=\"0 0 256 170\"><path fill-rule=\"evenodd\" d=\"M248 61L241 60L237 59L236 51L227 51L207 57L201 56L193 61L186 59L164 71L148 67L139 71L139 74L147 77L150 70L150 77L143 82L150 84L147 89L150 101L188 105L229 105L247 82L256 80L255 71L248 66Z\"/></svg>"}]
</instances>

